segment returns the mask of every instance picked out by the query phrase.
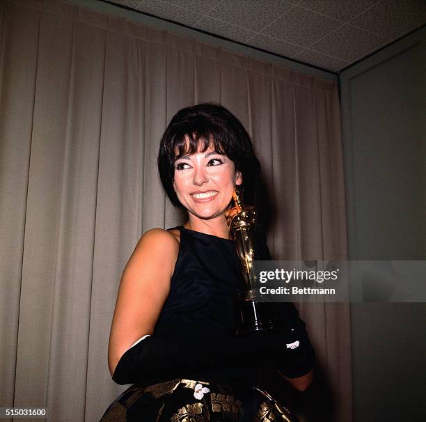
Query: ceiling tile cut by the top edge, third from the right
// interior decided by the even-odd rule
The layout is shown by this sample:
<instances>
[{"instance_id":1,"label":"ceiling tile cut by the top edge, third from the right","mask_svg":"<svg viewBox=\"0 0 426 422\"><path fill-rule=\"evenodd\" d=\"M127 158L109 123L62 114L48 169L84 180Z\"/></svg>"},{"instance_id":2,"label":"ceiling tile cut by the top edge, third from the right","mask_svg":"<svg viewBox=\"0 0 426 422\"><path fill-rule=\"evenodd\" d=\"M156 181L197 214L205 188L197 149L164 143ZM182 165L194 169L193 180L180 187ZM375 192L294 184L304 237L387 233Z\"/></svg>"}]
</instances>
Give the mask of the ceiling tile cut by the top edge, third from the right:
<instances>
[{"instance_id":1,"label":"ceiling tile cut by the top edge, third from the right","mask_svg":"<svg viewBox=\"0 0 426 422\"><path fill-rule=\"evenodd\" d=\"M209 16L252 31L260 31L292 7L282 0L223 0L220 7L215 8Z\"/></svg>"}]
</instances>

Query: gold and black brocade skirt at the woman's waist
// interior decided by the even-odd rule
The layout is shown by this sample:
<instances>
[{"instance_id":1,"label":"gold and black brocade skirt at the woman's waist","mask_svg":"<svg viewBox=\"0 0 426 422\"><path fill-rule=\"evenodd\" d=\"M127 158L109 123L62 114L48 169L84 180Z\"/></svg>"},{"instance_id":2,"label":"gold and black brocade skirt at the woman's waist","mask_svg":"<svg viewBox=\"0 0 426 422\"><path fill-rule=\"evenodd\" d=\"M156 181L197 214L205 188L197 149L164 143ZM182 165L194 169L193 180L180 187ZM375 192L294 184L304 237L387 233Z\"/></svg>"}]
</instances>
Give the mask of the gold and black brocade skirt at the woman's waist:
<instances>
[{"instance_id":1,"label":"gold and black brocade skirt at the woman's waist","mask_svg":"<svg viewBox=\"0 0 426 422\"><path fill-rule=\"evenodd\" d=\"M101 422L297 422L268 393L249 386L171 380L124 391Z\"/></svg>"}]
</instances>

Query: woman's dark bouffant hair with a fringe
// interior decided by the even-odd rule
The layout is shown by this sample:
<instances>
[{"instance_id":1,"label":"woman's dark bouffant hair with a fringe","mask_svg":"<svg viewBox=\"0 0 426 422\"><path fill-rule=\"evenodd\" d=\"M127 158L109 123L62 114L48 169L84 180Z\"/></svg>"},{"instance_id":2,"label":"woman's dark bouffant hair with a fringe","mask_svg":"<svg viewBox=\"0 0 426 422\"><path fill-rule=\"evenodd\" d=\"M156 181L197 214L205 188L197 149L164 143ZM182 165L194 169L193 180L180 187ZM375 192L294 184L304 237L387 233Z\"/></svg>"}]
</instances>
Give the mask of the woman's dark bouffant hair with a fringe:
<instances>
[{"instance_id":1,"label":"woman's dark bouffant hair with a fringe","mask_svg":"<svg viewBox=\"0 0 426 422\"><path fill-rule=\"evenodd\" d=\"M185 136L189 138L188 148ZM182 208L173 189L175 160L182 155L196 153L198 144L204 152L210 143L214 150L230 158L235 170L242 173L244 198L253 196L260 164L254 155L250 135L228 109L221 104L207 102L178 111L161 138L159 175L168 198L176 207ZM175 155L175 150L178 150L178 155Z\"/></svg>"}]
</instances>

